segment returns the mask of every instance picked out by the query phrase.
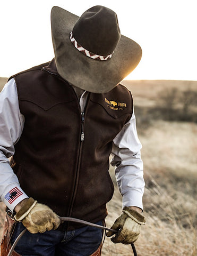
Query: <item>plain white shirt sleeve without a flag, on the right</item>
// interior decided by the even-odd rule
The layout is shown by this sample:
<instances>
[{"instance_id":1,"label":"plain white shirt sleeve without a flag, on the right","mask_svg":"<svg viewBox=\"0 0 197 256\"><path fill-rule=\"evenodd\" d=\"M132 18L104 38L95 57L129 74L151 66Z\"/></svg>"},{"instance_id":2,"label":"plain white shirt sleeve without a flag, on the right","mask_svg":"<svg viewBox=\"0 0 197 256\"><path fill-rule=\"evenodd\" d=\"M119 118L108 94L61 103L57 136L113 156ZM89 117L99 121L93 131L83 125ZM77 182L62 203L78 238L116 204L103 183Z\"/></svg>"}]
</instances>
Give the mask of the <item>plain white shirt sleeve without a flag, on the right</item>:
<instances>
[{"instance_id":1,"label":"plain white shirt sleeve without a flag, on the right","mask_svg":"<svg viewBox=\"0 0 197 256\"><path fill-rule=\"evenodd\" d=\"M113 140L111 164L116 166L115 175L124 206L136 206L143 210L144 193L142 145L136 131L135 115Z\"/></svg>"}]
</instances>

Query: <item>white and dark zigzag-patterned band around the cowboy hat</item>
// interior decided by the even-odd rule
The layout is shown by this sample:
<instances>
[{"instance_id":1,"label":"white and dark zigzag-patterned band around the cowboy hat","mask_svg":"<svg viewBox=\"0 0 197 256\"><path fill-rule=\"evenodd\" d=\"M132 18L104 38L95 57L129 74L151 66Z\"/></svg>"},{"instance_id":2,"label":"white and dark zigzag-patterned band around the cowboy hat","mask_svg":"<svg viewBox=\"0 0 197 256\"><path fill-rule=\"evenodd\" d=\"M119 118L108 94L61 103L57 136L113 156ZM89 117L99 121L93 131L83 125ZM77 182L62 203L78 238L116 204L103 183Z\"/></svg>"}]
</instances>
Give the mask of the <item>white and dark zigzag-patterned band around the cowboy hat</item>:
<instances>
[{"instance_id":1,"label":"white and dark zigzag-patterned band around the cowboy hat","mask_svg":"<svg viewBox=\"0 0 197 256\"><path fill-rule=\"evenodd\" d=\"M106 55L106 56L102 56L102 55L97 55L95 53L92 53L86 49L83 48L83 46L81 46L78 42L76 42L74 36L73 36L73 31L71 31L70 33L70 40L72 42L72 44L74 45L74 47L76 49L78 49L78 51L82 52L84 55L94 59L94 60L108 60L110 58L112 58L112 54Z\"/></svg>"}]
</instances>

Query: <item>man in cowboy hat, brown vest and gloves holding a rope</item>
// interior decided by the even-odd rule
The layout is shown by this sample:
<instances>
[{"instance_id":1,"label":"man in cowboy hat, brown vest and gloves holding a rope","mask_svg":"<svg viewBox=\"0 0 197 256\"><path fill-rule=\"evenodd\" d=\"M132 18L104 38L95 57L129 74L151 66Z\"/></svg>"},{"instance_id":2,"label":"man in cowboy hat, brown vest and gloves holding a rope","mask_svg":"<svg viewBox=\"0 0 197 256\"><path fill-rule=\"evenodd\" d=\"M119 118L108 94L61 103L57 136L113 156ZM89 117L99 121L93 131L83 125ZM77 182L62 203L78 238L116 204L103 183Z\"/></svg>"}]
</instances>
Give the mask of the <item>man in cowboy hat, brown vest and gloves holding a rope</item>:
<instances>
[{"instance_id":1,"label":"man in cowboy hat, brown vest and gloves holding a rope","mask_svg":"<svg viewBox=\"0 0 197 256\"><path fill-rule=\"evenodd\" d=\"M120 34L116 13L104 6L80 18L55 6L51 22L55 59L12 76L1 93L0 194L12 217L2 255L24 228L13 255L101 255L100 229L59 217L102 225L114 191L112 153L123 195L112 241L138 238L141 144L131 92L119 82L138 65L141 48Z\"/></svg>"}]
</instances>

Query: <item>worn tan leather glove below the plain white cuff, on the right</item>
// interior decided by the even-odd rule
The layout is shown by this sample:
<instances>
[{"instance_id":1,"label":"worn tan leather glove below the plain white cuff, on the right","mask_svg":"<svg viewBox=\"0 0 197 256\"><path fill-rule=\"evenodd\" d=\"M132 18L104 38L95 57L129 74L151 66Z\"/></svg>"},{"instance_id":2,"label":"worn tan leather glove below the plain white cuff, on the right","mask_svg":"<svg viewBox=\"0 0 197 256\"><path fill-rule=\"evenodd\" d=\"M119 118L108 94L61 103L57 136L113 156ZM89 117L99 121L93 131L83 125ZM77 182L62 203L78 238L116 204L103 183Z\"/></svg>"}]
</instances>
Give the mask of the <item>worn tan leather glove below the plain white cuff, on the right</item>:
<instances>
[{"instance_id":1,"label":"worn tan leather glove below the plain white cuff, on the right","mask_svg":"<svg viewBox=\"0 0 197 256\"><path fill-rule=\"evenodd\" d=\"M130 207L124 207L123 213L116 219L114 225L111 227L114 230L118 230L118 233L113 231L107 232L107 237L111 238L112 242L131 244L134 243L140 234L141 225L145 225L145 218L139 212L132 210Z\"/></svg>"}]
</instances>

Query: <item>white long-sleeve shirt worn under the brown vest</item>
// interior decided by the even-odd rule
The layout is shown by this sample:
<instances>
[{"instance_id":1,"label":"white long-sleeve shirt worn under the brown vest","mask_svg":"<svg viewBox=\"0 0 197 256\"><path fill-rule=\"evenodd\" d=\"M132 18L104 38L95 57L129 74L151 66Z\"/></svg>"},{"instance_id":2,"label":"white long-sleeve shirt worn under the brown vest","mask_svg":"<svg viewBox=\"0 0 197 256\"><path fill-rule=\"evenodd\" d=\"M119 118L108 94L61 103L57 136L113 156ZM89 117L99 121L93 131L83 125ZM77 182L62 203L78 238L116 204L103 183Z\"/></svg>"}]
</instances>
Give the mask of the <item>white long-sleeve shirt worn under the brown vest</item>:
<instances>
[{"instance_id":1,"label":"white long-sleeve shirt worn under the brown vest","mask_svg":"<svg viewBox=\"0 0 197 256\"><path fill-rule=\"evenodd\" d=\"M80 98L81 109L84 108L86 100L87 92L84 92ZM19 109L16 83L12 78L0 93L0 199L11 211L24 198L28 198L7 159L14 155L14 145L20 139L24 122L25 118ZM144 179L141 147L133 113L130 121L113 140L112 148L111 164L116 166L115 174L119 191L123 196L123 207L137 206L143 209ZM17 194L12 195L12 191L17 191Z\"/></svg>"}]
</instances>

